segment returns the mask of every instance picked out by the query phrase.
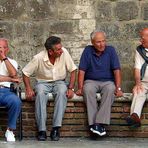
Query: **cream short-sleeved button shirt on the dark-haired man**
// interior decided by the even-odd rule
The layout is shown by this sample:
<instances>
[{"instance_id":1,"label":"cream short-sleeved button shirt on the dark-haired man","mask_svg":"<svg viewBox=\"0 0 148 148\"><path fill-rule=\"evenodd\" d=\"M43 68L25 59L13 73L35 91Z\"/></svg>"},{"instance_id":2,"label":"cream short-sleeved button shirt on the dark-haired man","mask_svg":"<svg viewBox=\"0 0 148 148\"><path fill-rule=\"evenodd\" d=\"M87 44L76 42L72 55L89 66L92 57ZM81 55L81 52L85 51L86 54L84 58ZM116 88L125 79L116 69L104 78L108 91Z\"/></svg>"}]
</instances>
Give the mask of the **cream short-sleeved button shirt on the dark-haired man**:
<instances>
[{"instance_id":1,"label":"cream short-sleeved button shirt on the dark-haired man","mask_svg":"<svg viewBox=\"0 0 148 148\"><path fill-rule=\"evenodd\" d=\"M30 77L33 73L38 82L51 82L64 80L67 71L72 72L77 69L68 51L62 47L63 53L56 58L54 65L50 62L48 51L43 50L23 68L23 73Z\"/></svg>"}]
</instances>

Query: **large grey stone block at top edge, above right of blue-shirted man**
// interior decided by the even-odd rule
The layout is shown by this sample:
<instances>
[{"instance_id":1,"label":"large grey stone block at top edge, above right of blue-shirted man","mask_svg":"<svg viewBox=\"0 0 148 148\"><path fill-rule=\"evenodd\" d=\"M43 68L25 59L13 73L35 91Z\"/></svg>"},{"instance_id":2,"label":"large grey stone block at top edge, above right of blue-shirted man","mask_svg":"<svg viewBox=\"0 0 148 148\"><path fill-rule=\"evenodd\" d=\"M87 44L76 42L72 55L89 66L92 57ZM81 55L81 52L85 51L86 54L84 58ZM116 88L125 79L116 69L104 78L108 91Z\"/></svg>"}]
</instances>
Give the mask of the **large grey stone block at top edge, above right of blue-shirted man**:
<instances>
[{"instance_id":1,"label":"large grey stone block at top edge, above right of blue-shirted man","mask_svg":"<svg viewBox=\"0 0 148 148\"><path fill-rule=\"evenodd\" d=\"M135 1L117 2L114 9L115 17L120 21L129 21L138 17L139 8Z\"/></svg>"}]
</instances>

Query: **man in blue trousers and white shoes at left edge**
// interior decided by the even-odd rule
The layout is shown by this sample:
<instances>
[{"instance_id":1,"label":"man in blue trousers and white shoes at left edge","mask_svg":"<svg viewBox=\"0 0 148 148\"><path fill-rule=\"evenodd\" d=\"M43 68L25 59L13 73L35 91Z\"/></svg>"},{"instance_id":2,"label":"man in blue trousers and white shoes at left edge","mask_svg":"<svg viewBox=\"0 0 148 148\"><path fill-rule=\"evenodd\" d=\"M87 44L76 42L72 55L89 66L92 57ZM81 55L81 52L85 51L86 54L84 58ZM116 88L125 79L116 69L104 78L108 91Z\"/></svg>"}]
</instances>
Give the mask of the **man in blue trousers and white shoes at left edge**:
<instances>
[{"instance_id":1,"label":"man in blue trousers and white shoes at left edge","mask_svg":"<svg viewBox=\"0 0 148 148\"><path fill-rule=\"evenodd\" d=\"M17 118L21 110L21 101L10 91L12 82L20 82L17 78L17 62L7 57L9 51L6 39L0 38L0 106L8 109L8 127L5 133L7 141L15 141L13 130L16 129Z\"/></svg>"}]
</instances>

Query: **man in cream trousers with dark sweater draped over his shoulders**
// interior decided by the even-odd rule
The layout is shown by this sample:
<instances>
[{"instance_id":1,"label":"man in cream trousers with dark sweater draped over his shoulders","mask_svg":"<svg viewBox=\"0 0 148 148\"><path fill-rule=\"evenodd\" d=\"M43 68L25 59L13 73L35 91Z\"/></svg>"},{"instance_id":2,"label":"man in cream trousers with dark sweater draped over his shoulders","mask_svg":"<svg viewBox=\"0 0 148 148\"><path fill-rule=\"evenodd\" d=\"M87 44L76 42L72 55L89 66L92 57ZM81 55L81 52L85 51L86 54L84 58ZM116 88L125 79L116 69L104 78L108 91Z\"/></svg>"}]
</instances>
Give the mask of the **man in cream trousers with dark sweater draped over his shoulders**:
<instances>
[{"instance_id":1,"label":"man in cream trousers with dark sweater draped over his shoulders","mask_svg":"<svg viewBox=\"0 0 148 148\"><path fill-rule=\"evenodd\" d=\"M135 54L135 86L133 88L133 100L130 116L127 123L131 127L141 126L141 112L148 93L148 28L140 32L141 45L137 47Z\"/></svg>"}]
</instances>

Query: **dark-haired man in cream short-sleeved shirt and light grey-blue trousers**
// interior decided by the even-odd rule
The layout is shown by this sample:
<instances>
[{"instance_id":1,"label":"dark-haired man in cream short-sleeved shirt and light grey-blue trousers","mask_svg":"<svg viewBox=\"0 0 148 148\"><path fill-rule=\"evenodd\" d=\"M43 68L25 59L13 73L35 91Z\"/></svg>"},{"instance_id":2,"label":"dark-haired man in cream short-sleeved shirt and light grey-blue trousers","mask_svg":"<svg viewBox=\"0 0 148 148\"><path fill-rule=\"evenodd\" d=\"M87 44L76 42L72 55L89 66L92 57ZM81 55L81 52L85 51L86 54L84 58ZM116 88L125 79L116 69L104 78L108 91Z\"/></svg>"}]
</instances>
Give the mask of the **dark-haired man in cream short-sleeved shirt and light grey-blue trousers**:
<instances>
[{"instance_id":1,"label":"dark-haired man in cream short-sleeved shirt and light grey-blue trousers","mask_svg":"<svg viewBox=\"0 0 148 148\"><path fill-rule=\"evenodd\" d=\"M66 109L67 98L74 95L76 65L68 51L62 47L61 39L56 36L49 37L45 42L46 50L35 55L34 58L23 68L23 80L26 87L27 99L35 96L35 114L38 126L38 140L45 141L46 136L46 106L48 93L52 92L55 99L55 107L52 121L51 140L60 138L59 128ZM65 83L67 72L70 73L70 82ZM30 76L35 73L37 84L35 92L30 85Z\"/></svg>"}]
</instances>

